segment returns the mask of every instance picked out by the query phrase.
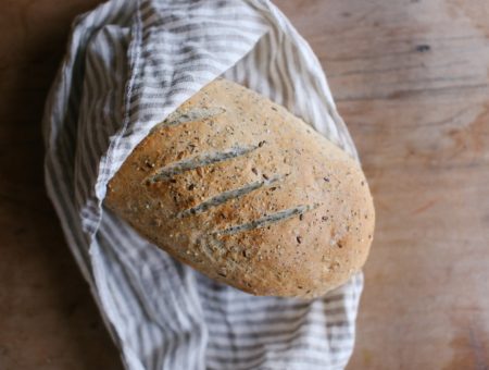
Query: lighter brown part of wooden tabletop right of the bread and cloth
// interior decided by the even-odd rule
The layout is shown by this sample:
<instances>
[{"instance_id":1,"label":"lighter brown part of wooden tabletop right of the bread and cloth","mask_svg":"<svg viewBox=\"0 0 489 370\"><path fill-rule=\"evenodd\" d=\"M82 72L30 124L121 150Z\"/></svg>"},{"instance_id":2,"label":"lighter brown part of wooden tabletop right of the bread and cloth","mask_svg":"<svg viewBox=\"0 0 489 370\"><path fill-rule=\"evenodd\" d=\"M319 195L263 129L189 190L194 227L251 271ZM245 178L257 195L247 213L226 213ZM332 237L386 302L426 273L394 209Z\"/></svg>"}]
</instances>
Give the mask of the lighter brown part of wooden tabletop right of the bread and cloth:
<instances>
[{"instance_id":1,"label":"lighter brown part of wooden tabletop right of the bread and cloth","mask_svg":"<svg viewBox=\"0 0 489 370\"><path fill-rule=\"evenodd\" d=\"M318 54L376 200L349 369L487 369L489 4L277 4Z\"/></svg>"}]
</instances>

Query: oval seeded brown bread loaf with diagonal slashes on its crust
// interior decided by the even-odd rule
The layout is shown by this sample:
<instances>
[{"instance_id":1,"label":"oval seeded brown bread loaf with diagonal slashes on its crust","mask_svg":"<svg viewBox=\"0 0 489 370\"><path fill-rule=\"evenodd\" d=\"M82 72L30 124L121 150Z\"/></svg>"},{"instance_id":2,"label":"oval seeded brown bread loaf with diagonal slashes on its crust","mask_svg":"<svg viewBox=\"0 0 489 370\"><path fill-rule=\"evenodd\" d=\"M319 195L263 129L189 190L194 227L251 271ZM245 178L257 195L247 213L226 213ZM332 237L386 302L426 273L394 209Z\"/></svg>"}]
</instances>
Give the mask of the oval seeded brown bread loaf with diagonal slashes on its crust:
<instances>
[{"instance_id":1,"label":"oval seeded brown bread loaf with diagonal slashes on its crust","mask_svg":"<svg viewBox=\"0 0 489 370\"><path fill-rule=\"evenodd\" d=\"M136 147L105 205L208 276L315 297L365 262L374 207L359 164L285 108L216 79Z\"/></svg>"}]
</instances>

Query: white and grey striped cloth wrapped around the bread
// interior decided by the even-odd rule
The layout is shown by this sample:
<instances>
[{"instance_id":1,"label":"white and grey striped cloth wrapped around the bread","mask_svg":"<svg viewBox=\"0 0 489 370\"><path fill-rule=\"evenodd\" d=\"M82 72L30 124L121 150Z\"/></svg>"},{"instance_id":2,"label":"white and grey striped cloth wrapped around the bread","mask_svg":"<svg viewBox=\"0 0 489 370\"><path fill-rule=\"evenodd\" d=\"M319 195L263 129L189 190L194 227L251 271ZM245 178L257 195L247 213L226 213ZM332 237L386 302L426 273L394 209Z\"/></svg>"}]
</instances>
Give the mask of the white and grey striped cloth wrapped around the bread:
<instances>
[{"instance_id":1,"label":"white and grey striped cloth wrapped around the bread","mask_svg":"<svg viewBox=\"0 0 489 370\"><path fill-rule=\"evenodd\" d=\"M135 146L221 75L356 157L317 58L269 1L110 0L76 18L46 106L46 184L67 244L127 369L342 369L362 274L313 301L254 297L103 208Z\"/></svg>"}]
</instances>

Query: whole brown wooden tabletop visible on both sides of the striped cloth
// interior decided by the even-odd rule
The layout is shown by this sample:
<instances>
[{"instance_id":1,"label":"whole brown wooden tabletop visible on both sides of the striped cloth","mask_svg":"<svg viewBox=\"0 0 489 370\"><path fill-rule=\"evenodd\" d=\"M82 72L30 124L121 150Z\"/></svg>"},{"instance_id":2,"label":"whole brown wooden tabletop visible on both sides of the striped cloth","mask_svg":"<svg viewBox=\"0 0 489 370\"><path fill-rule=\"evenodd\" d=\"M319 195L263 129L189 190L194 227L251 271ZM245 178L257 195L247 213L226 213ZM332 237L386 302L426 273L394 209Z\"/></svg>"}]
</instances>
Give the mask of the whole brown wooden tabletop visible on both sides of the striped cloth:
<instances>
[{"instance_id":1,"label":"whole brown wooden tabletop visible on both sides of the striped cloth","mask_svg":"<svg viewBox=\"0 0 489 370\"><path fill-rule=\"evenodd\" d=\"M121 369L45 196L39 122L97 0L0 0L0 369ZM353 369L488 369L489 3L277 0L377 208Z\"/></svg>"}]
</instances>

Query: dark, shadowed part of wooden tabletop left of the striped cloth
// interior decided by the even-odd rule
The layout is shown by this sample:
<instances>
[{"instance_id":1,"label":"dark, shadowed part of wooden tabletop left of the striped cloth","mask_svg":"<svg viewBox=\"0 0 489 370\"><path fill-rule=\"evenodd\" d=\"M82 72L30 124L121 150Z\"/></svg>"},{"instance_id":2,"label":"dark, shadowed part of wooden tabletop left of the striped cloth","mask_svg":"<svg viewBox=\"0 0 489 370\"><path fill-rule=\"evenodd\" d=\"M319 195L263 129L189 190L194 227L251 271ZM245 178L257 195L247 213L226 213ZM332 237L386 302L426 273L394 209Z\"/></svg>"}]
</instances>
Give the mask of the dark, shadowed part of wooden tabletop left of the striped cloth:
<instances>
[{"instance_id":1,"label":"dark, shadowed part of wooden tabletop left of the striped cloth","mask_svg":"<svg viewBox=\"0 0 489 370\"><path fill-rule=\"evenodd\" d=\"M40 120L73 17L0 0L0 369L122 369L45 195Z\"/></svg>"}]
</instances>

